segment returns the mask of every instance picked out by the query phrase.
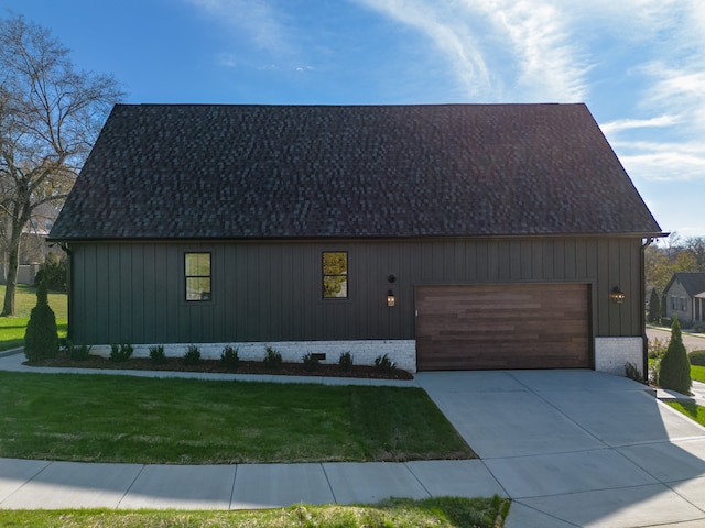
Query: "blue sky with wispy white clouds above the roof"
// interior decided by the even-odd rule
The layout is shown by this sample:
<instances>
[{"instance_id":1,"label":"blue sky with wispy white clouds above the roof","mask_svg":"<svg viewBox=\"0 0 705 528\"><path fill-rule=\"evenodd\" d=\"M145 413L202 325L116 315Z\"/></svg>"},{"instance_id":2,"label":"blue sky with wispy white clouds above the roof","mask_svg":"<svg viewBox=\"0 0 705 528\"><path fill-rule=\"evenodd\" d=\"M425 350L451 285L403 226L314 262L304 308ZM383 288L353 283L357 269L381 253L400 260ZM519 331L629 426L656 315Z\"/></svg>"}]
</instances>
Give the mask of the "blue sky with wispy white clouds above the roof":
<instances>
[{"instance_id":1,"label":"blue sky with wispy white clouds above the roof","mask_svg":"<svg viewBox=\"0 0 705 528\"><path fill-rule=\"evenodd\" d=\"M586 102L664 231L705 237L702 0L0 0L126 102Z\"/></svg>"}]
</instances>

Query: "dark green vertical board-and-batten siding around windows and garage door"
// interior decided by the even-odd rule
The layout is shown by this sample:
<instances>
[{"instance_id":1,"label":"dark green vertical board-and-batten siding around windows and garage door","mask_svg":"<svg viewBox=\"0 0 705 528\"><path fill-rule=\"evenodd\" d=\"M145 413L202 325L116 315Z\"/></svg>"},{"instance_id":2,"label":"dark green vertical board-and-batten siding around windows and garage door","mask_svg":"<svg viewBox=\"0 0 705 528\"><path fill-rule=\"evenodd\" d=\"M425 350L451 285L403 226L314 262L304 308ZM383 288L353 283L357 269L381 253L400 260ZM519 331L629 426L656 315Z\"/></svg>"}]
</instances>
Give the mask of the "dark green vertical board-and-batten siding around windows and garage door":
<instances>
[{"instance_id":1,"label":"dark green vertical board-and-batten siding around windows and garage door","mask_svg":"<svg viewBox=\"0 0 705 528\"><path fill-rule=\"evenodd\" d=\"M641 240L475 238L70 242L78 344L408 340L417 285L585 283L594 337L641 336ZM323 299L322 252L348 253L347 299ZM212 300L185 300L184 253L212 254ZM397 280L388 283L394 274ZM609 299L618 286L623 304ZM387 306L387 293L397 304Z\"/></svg>"}]
</instances>

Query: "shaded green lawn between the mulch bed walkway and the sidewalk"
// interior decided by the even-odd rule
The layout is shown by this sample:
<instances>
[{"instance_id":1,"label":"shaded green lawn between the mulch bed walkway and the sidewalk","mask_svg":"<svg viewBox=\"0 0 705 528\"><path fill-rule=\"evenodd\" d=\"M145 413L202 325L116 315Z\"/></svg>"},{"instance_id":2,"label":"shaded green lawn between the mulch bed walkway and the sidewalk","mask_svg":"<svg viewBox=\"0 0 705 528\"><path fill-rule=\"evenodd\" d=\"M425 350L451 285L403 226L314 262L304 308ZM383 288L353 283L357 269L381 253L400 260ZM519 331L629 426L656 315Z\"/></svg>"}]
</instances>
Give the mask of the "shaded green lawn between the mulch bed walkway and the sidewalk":
<instances>
[{"instance_id":1,"label":"shaded green lawn between the mulch bed walkway and the sidewalk","mask_svg":"<svg viewBox=\"0 0 705 528\"><path fill-rule=\"evenodd\" d=\"M0 372L0 457L232 464L474 458L420 388Z\"/></svg>"}]
</instances>

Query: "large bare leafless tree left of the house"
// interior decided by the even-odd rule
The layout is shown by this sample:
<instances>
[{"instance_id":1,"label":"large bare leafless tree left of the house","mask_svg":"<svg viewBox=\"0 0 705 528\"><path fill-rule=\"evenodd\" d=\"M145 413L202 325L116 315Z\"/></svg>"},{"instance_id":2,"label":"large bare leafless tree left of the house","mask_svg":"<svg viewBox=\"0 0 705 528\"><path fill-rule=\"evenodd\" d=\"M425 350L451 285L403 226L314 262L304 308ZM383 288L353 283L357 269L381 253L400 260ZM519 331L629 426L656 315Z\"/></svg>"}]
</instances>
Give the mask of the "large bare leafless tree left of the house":
<instances>
[{"instance_id":1,"label":"large bare leafless tree left of the house","mask_svg":"<svg viewBox=\"0 0 705 528\"><path fill-rule=\"evenodd\" d=\"M0 217L8 239L2 316L14 315L20 238L32 211L65 199L121 97L111 76L76 70L46 29L22 16L0 20Z\"/></svg>"}]
</instances>

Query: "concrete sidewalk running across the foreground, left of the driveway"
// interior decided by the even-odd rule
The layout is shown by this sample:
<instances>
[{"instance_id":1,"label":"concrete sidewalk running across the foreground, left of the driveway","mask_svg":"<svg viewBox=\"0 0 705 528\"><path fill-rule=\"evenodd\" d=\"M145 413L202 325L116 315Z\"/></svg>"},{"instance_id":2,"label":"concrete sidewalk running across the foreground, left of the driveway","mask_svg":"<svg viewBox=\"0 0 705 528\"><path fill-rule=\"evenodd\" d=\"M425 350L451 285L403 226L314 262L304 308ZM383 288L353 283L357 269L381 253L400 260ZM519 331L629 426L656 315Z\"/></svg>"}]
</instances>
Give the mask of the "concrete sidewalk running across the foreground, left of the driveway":
<instances>
[{"instance_id":1,"label":"concrete sidewalk running across the foreground, left of the driveway","mask_svg":"<svg viewBox=\"0 0 705 528\"><path fill-rule=\"evenodd\" d=\"M0 508L257 509L503 494L479 460L242 465L0 459Z\"/></svg>"}]
</instances>

